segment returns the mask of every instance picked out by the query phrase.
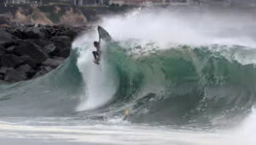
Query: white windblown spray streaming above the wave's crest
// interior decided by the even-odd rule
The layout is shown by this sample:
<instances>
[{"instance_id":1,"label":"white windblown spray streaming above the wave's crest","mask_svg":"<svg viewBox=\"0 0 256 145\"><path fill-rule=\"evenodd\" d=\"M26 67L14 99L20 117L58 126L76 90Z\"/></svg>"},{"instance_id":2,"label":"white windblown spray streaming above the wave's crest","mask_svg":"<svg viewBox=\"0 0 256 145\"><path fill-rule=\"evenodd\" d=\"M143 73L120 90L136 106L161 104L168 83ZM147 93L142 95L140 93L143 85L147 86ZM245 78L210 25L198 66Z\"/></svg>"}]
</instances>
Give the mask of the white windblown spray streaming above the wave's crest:
<instances>
[{"instance_id":1,"label":"white windblown spray streaming above the wave's crest","mask_svg":"<svg viewBox=\"0 0 256 145\"><path fill-rule=\"evenodd\" d=\"M158 42L161 48L170 44L207 45L239 44L256 46L246 31L256 20L249 14L226 12L137 10L128 16L105 18L102 26L115 40L139 39L142 42ZM241 18L243 19L241 21ZM252 30L253 31L253 30Z\"/></svg>"}]
</instances>

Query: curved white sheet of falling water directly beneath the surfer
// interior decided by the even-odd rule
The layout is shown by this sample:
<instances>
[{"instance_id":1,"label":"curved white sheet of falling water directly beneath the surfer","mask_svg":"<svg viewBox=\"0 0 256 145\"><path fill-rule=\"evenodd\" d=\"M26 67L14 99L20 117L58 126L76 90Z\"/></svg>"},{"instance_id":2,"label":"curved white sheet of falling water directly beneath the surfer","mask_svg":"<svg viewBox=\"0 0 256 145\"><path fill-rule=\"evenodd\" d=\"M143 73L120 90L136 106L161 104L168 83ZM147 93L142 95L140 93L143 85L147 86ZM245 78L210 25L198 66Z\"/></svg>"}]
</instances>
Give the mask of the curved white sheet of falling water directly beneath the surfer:
<instances>
[{"instance_id":1,"label":"curved white sheet of falling water directly beneath the surfer","mask_svg":"<svg viewBox=\"0 0 256 145\"><path fill-rule=\"evenodd\" d=\"M95 38L95 39L93 39ZM119 81L111 66L104 61L104 45L102 45L101 64L93 63L92 43L96 40L94 32L88 33L79 38L74 47L79 47L78 66L84 78L84 95L81 96L81 103L78 111L96 109L108 103L116 92Z\"/></svg>"}]
</instances>

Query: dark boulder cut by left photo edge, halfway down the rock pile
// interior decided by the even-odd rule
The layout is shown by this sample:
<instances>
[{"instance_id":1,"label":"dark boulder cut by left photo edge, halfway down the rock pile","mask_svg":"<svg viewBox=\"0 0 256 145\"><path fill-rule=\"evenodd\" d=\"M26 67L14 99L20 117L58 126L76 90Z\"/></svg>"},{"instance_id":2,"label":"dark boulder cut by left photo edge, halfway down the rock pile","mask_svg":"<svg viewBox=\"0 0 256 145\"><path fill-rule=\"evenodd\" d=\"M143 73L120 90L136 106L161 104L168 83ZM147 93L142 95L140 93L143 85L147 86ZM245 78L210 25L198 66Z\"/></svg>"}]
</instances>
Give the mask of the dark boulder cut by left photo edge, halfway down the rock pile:
<instances>
[{"instance_id":1,"label":"dark boulder cut by left photo edge, halfway down the rock pile","mask_svg":"<svg viewBox=\"0 0 256 145\"><path fill-rule=\"evenodd\" d=\"M17 67L20 64L25 64L26 60L23 59L22 57L16 56L14 54L3 54L0 56L1 60L1 66L6 66L6 67Z\"/></svg>"}]
</instances>

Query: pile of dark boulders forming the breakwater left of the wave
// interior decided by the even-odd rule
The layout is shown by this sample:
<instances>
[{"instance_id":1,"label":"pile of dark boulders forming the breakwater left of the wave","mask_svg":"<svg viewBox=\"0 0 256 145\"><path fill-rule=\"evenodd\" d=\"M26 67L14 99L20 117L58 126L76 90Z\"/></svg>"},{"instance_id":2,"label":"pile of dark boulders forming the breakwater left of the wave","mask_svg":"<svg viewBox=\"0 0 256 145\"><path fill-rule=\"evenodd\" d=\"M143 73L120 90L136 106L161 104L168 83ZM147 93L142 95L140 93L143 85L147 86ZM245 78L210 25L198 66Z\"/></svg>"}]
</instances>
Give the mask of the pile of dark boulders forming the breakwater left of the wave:
<instances>
[{"instance_id":1,"label":"pile of dark boulders forming the breakwater left of the wave","mask_svg":"<svg viewBox=\"0 0 256 145\"><path fill-rule=\"evenodd\" d=\"M79 27L0 27L0 80L25 81L44 75L68 56Z\"/></svg>"}]
</instances>

